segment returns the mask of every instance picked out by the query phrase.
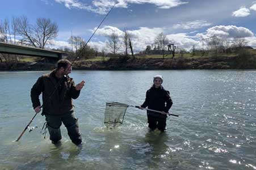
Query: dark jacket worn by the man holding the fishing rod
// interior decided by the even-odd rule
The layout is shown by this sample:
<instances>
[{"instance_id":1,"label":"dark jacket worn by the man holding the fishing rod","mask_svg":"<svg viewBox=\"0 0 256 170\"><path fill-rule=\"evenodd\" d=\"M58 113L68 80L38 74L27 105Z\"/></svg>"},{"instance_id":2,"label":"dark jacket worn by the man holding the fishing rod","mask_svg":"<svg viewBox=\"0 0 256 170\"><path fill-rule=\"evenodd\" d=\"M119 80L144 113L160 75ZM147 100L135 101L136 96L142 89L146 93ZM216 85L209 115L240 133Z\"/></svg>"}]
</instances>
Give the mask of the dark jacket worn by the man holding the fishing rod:
<instances>
[{"instance_id":1,"label":"dark jacket worn by the man holding the fishing rod","mask_svg":"<svg viewBox=\"0 0 256 170\"><path fill-rule=\"evenodd\" d=\"M43 93L43 111L42 114L65 114L73 112L72 99L77 99L80 91L75 90L75 83L69 76L64 76L61 83L49 98L57 86L58 79L55 76L56 70L51 73L40 76L31 88L31 101L33 108L41 105L39 95Z\"/></svg>"}]
</instances>

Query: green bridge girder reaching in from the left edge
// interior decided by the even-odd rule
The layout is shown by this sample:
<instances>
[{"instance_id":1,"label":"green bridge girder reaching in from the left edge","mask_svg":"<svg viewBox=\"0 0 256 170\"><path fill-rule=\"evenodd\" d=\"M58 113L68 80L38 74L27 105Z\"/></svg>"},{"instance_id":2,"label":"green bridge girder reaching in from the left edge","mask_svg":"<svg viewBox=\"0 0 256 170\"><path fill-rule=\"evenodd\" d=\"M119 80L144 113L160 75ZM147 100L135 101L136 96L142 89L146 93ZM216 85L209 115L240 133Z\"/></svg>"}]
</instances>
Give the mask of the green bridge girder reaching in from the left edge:
<instances>
[{"instance_id":1,"label":"green bridge girder reaching in from the left edge","mask_svg":"<svg viewBox=\"0 0 256 170\"><path fill-rule=\"evenodd\" d=\"M61 59L62 52L0 42L0 53Z\"/></svg>"}]
</instances>

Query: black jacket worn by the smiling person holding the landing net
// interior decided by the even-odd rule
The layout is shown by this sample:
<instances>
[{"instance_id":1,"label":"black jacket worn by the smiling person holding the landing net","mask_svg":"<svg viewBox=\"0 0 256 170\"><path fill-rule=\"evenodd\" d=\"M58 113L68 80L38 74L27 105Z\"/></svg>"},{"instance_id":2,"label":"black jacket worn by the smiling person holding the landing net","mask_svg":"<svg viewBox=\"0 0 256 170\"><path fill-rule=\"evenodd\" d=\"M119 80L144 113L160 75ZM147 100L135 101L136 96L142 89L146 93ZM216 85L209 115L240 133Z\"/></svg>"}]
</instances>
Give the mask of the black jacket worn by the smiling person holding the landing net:
<instances>
[{"instance_id":1,"label":"black jacket worn by the smiling person holding the landing net","mask_svg":"<svg viewBox=\"0 0 256 170\"><path fill-rule=\"evenodd\" d=\"M146 99L141 107L148 107L149 109L156 111L168 112L171 108L171 105L173 105L173 101L171 100L170 92L165 90L162 86L160 88L155 88L153 86L148 91L146 91ZM148 114L152 114L152 116L158 116L161 113L148 111Z\"/></svg>"}]
</instances>

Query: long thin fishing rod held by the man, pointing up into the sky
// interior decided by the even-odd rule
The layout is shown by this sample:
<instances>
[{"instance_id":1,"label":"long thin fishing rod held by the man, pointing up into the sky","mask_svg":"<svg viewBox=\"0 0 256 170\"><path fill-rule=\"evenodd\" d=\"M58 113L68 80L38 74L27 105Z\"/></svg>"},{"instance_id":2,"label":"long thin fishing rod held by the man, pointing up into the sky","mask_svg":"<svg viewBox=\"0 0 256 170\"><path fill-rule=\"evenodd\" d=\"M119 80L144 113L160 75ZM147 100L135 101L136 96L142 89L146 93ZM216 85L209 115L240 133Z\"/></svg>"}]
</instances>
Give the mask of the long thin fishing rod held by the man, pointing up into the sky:
<instances>
[{"instance_id":1,"label":"long thin fishing rod held by the man, pointing up into the sky","mask_svg":"<svg viewBox=\"0 0 256 170\"><path fill-rule=\"evenodd\" d=\"M79 56L82 54L83 49L85 49L85 47L87 46L87 44L90 42L91 38L95 35L96 31L99 29L100 25L101 25L101 24L104 22L104 20L107 18L108 14L110 14L110 12L111 12L112 9L115 7L115 5L116 5L116 3L114 3L114 5L113 5L113 6L110 8L110 10L107 12L107 14L105 15L105 17L104 17L104 18L102 19L102 21L99 23L98 27L95 29L95 31L93 32L93 34L92 34L92 35L90 36L90 38L87 40L86 44L83 45L82 49L80 49L80 51L79 51L79 53L77 54L77 56L75 57L74 61L71 63L71 65L69 65L68 69L66 69L66 70L69 70L70 67L74 64L74 62L79 59ZM61 81L62 81L62 79L63 79L64 77L66 77L66 75L63 76L63 77L58 81L58 83L56 84L56 86L54 86L53 92L51 93L51 95L49 95L49 98L48 98L48 100L46 100L46 101L48 101L48 102L51 101L52 95L54 94L54 92L56 92L58 86L60 85L60 83L61 83ZM40 106L40 109L43 108L43 105L44 105L44 104L42 104L42 105ZM40 111L39 111L39 112L40 112ZM39 113L39 112L37 112L37 113ZM21 133L21 134L19 135L19 137L16 139L16 142L19 141L19 139L22 137L22 135L25 133L25 131L30 127L30 124L32 123L33 119L36 117L37 113L32 117L32 119L30 120L30 122L28 122L26 128L22 131L22 133Z\"/></svg>"}]
</instances>

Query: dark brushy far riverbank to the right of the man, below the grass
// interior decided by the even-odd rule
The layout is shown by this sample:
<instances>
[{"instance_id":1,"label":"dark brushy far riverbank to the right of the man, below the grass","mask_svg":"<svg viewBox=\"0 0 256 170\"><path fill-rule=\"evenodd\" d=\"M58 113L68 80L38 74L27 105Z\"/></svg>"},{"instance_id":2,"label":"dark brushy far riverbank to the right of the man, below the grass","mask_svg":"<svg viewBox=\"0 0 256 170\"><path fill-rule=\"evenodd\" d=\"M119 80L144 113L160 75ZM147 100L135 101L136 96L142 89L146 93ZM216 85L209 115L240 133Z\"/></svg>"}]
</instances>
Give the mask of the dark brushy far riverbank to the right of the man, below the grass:
<instances>
[{"instance_id":1,"label":"dark brushy far riverbank to the right of the man, below the grass","mask_svg":"<svg viewBox=\"0 0 256 170\"><path fill-rule=\"evenodd\" d=\"M256 69L254 57L216 58L110 58L108 61L80 61L77 70L176 70L176 69Z\"/></svg>"}]
</instances>

